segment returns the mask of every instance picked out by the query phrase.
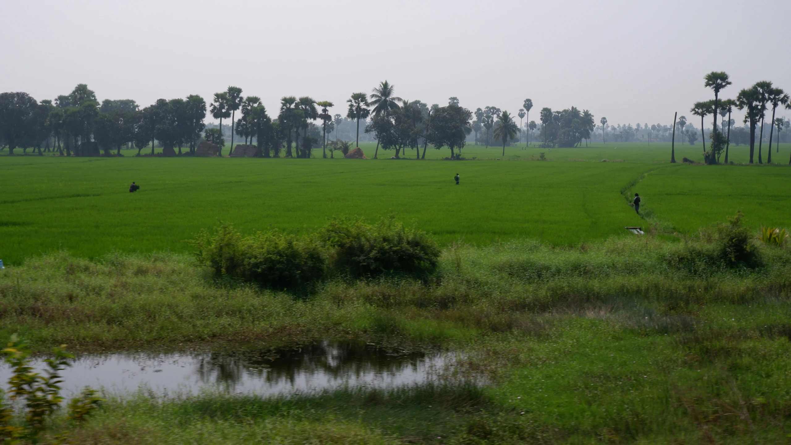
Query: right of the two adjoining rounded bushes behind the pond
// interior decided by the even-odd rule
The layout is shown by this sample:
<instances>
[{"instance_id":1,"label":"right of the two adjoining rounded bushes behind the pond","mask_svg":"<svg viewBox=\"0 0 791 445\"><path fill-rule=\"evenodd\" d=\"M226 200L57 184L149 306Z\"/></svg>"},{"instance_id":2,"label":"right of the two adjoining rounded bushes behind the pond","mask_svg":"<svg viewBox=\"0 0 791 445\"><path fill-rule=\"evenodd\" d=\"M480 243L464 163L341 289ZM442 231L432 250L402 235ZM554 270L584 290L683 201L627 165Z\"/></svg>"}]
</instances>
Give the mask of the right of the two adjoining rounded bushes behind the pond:
<instances>
[{"instance_id":1,"label":"right of the two adjoining rounded bushes behind the pond","mask_svg":"<svg viewBox=\"0 0 791 445\"><path fill-rule=\"evenodd\" d=\"M330 221L319 233L336 273L374 277L385 273L427 275L437 269L441 254L437 243L414 228L405 228L395 217L375 225L361 218Z\"/></svg>"}]
</instances>

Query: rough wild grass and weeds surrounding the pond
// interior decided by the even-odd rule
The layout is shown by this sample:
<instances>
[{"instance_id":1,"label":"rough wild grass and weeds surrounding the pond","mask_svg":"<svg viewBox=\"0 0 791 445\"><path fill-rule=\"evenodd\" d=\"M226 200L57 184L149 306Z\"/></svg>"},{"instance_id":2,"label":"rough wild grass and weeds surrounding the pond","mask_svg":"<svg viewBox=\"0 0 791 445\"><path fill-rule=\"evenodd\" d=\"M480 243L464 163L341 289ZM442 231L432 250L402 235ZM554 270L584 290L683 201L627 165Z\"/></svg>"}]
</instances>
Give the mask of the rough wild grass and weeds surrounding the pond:
<instances>
[{"instance_id":1,"label":"rough wild grass and weeds surrounding the pond","mask_svg":"<svg viewBox=\"0 0 791 445\"><path fill-rule=\"evenodd\" d=\"M733 268L718 242L456 245L430 281L299 297L212 281L188 255L56 254L0 272L0 334L81 350L365 338L460 352L436 387L110 398L75 443L783 443L791 250L755 245L759 267Z\"/></svg>"}]
</instances>

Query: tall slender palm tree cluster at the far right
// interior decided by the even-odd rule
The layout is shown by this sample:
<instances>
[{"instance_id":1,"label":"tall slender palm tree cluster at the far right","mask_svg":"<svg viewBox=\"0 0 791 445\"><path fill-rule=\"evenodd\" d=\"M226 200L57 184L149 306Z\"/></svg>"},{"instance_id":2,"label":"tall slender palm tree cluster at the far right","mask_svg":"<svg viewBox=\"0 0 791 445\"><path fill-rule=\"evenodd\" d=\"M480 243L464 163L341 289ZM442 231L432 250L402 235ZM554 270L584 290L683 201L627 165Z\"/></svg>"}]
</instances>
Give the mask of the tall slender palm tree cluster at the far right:
<instances>
[{"instance_id":1,"label":"tall slender palm tree cluster at the far right","mask_svg":"<svg viewBox=\"0 0 791 445\"><path fill-rule=\"evenodd\" d=\"M720 92L732 84L728 74L722 71L712 71L704 77L704 85L714 92L713 100L706 100L696 102L691 113L700 116L701 123L701 137L703 141L703 157L707 164L717 164L720 161L721 153L725 153L725 163L728 163L729 145L731 141L731 113L733 108L745 111L744 123L749 124L749 144L750 144L750 164L755 161L755 133L758 130L760 123L759 145L758 145L758 163L763 164L763 130L766 121L767 105L772 107L772 117L769 121L769 150L766 153L766 162L772 162L772 139L774 138L775 113L778 107L785 107L791 109L789 104L789 95L782 89L775 88L770 81L759 81L750 88L742 89L736 96L735 100L727 99L720 100ZM725 115L728 116L728 125L725 134L717 126L717 114L720 114L723 119ZM706 134L703 132L703 118L707 115L713 117L713 129L710 132L710 146L706 150ZM782 120L782 119L781 119ZM778 131L782 126L778 126ZM692 141L690 139L690 141ZM779 149L778 149L779 150ZM791 164L791 160L789 160Z\"/></svg>"}]
</instances>

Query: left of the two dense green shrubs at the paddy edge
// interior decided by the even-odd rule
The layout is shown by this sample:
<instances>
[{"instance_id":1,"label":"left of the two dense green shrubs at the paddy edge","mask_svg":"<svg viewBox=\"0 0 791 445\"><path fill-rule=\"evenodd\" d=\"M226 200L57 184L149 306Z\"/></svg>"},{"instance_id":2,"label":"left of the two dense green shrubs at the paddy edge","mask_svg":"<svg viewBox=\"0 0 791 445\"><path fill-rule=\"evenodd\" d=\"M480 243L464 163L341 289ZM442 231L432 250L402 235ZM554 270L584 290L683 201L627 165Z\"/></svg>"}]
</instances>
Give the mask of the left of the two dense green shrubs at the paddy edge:
<instances>
[{"instance_id":1,"label":"left of the two dense green shrubs at the paddy edge","mask_svg":"<svg viewBox=\"0 0 791 445\"><path fill-rule=\"evenodd\" d=\"M275 290L303 288L324 277L326 258L310 237L272 230L243 237L232 225L205 229L191 241L199 262L217 276L241 278Z\"/></svg>"}]
</instances>

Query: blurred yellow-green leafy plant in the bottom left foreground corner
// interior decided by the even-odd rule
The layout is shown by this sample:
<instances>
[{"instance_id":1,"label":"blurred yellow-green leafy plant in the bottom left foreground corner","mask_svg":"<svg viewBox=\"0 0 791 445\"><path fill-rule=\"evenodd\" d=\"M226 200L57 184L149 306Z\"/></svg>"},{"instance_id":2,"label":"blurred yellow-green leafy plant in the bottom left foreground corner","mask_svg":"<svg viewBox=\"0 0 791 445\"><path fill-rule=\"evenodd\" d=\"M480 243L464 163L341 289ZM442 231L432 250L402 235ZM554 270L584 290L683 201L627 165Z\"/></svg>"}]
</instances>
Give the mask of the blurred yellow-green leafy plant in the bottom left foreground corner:
<instances>
[{"instance_id":1,"label":"blurred yellow-green leafy plant in the bottom left foreground corner","mask_svg":"<svg viewBox=\"0 0 791 445\"><path fill-rule=\"evenodd\" d=\"M35 372L30 365L30 347L14 334L2 354L6 356L6 364L13 368L9 379L9 401L25 402L24 418L14 416L13 405L5 402L0 405L0 439L6 443L29 441L37 443L40 434L62 405L64 398L60 395L63 380L61 371L70 366L74 355L66 352L65 345L52 349L53 357L44 360L46 375ZM85 422L93 409L103 402L97 397L97 391L85 387L85 390L72 398L68 405L67 420L74 423ZM66 442L66 436L59 436L59 442Z\"/></svg>"}]
</instances>

